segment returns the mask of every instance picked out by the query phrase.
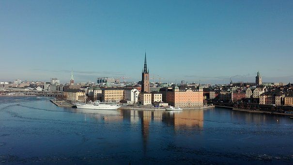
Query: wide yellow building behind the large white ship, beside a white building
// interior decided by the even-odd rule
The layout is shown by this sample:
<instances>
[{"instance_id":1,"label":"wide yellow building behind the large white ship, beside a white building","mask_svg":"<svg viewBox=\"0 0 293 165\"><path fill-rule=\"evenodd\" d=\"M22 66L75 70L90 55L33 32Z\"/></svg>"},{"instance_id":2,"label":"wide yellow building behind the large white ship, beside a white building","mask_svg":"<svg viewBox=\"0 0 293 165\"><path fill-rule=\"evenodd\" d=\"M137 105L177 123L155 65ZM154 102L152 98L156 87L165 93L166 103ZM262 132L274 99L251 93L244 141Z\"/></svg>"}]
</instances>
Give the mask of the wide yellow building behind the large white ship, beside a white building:
<instances>
[{"instance_id":1,"label":"wide yellow building behind the large white ship, beside a white building","mask_svg":"<svg viewBox=\"0 0 293 165\"><path fill-rule=\"evenodd\" d=\"M102 88L102 101L119 102L124 99L124 88Z\"/></svg>"}]
</instances>

